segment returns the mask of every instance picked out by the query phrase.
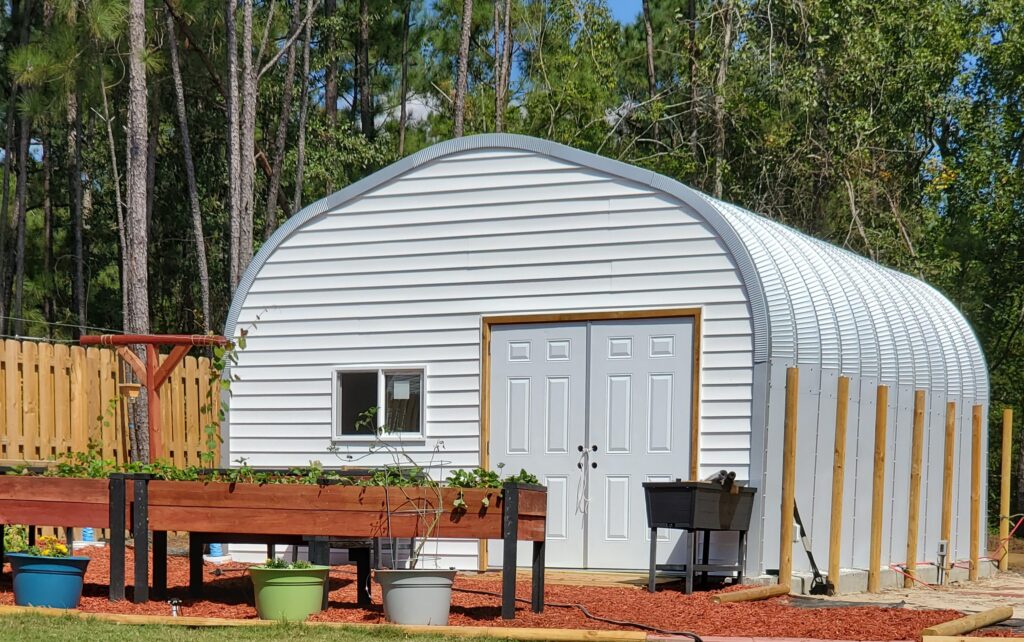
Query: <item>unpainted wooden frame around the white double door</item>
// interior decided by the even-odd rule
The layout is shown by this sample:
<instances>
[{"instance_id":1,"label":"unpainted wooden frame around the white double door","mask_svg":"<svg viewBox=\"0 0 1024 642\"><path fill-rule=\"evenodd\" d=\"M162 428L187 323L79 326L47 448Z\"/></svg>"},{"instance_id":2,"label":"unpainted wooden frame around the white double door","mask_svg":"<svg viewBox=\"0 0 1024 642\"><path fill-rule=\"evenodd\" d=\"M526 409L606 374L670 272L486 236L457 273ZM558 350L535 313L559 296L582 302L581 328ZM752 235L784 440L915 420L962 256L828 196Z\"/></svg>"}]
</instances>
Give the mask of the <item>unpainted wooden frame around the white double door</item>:
<instances>
[{"instance_id":1,"label":"unpainted wooden frame around the white double door","mask_svg":"<svg viewBox=\"0 0 1024 642\"><path fill-rule=\"evenodd\" d=\"M490 332L494 326L517 324L558 324L640 318L693 319L693 374L690 398L690 479L696 480L700 464L700 339L702 308L679 307L639 310L601 310L591 312L541 312L496 314L480 317L480 468L490 468ZM480 541L479 569L487 568L487 543Z\"/></svg>"}]
</instances>

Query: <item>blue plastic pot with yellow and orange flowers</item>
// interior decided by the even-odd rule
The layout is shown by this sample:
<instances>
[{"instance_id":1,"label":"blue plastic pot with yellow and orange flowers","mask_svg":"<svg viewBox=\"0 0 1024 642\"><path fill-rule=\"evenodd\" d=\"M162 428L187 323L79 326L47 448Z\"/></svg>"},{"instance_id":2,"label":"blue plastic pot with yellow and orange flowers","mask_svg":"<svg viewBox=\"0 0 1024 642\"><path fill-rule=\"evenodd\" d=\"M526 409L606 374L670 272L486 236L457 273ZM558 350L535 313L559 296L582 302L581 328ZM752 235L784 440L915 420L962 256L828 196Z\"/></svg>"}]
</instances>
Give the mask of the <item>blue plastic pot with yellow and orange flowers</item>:
<instances>
[{"instance_id":1,"label":"blue plastic pot with yellow and orange flowers","mask_svg":"<svg viewBox=\"0 0 1024 642\"><path fill-rule=\"evenodd\" d=\"M78 608L88 557L42 557L7 553L18 606Z\"/></svg>"}]
</instances>

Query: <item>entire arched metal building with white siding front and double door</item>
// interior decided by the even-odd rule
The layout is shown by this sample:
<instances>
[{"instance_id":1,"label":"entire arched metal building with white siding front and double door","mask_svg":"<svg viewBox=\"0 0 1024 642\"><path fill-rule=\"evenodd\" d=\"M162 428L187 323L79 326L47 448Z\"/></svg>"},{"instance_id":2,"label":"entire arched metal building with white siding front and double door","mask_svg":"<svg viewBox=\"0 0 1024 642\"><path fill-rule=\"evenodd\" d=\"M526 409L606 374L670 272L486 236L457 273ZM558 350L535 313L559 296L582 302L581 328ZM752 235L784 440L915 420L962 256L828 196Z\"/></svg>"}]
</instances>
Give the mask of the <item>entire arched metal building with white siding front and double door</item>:
<instances>
[{"instance_id":1,"label":"entire arched metal building with white siding front and double door","mask_svg":"<svg viewBox=\"0 0 1024 642\"><path fill-rule=\"evenodd\" d=\"M441 475L538 474L550 566L646 567L641 483L729 469L759 488L748 574L776 568L792 366L797 506L821 559L837 380L852 380L844 567L868 564L876 387L890 386L882 562L901 563L923 388L919 550L938 546L951 400L949 547L969 557L971 409L987 413L988 379L961 313L916 279L650 171L517 135L435 144L281 227L236 292L225 334L243 328L225 465L388 464L357 421L377 405ZM684 558L672 540L660 561ZM435 546L444 565L500 562L500 546Z\"/></svg>"}]
</instances>

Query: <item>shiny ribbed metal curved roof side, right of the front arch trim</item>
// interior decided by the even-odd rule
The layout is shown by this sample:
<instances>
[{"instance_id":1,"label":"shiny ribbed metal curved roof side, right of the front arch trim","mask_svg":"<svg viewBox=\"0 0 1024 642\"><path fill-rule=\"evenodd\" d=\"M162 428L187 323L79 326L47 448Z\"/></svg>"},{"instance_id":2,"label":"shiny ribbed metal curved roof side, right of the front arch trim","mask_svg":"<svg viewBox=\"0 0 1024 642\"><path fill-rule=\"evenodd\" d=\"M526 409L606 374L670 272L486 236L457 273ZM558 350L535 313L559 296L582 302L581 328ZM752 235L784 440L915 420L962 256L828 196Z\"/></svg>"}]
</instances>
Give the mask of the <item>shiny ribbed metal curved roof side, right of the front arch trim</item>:
<instances>
[{"instance_id":1,"label":"shiny ribbed metal curved roof side, right of the front arch trim","mask_svg":"<svg viewBox=\"0 0 1024 642\"><path fill-rule=\"evenodd\" d=\"M746 246L767 302L769 355L985 401L970 326L928 284L710 197Z\"/></svg>"}]
</instances>

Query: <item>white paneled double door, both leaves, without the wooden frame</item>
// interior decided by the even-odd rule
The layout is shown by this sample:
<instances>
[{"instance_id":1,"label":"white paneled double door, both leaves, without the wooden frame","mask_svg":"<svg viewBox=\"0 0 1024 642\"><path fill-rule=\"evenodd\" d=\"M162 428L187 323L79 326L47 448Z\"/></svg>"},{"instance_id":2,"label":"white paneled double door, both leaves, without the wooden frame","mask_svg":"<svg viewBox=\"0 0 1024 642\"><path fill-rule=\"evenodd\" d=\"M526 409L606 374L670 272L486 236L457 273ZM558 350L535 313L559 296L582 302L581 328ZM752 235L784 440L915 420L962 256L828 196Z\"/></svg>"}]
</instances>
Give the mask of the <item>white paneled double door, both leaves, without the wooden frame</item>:
<instances>
[{"instance_id":1,"label":"white paneled double door, both leaves, without the wooden frame","mask_svg":"<svg viewBox=\"0 0 1024 642\"><path fill-rule=\"evenodd\" d=\"M689 475L693 376L690 317L492 328L490 462L548 486L548 566L646 568L642 483Z\"/></svg>"}]
</instances>

